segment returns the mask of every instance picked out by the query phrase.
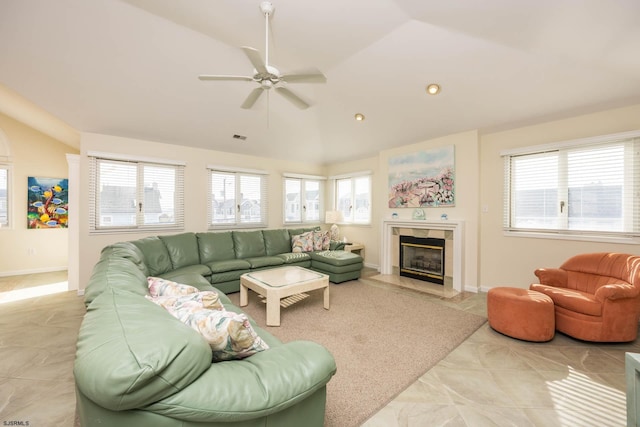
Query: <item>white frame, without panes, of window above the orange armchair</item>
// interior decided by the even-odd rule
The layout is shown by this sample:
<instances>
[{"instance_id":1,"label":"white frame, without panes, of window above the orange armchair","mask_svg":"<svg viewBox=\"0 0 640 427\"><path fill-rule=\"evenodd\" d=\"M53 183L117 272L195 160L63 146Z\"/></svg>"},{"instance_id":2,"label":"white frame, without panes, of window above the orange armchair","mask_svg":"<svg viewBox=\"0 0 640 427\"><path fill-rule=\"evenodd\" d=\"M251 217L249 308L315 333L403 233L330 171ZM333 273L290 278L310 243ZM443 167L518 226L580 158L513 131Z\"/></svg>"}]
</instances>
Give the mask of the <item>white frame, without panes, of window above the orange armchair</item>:
<instances>
[{"instance_id":1,"label":"white frame, without panes, of window above the orange armchair","mask_svg":"<svg viewBox=\"0 0 640 427\"><path fill-rule=\"evenodd\" d=\"M519 237L534 237L534 238L551 238L562 240L576 240L576 241L594 241L594 242L610 242L610 243L627 243L637 244L640 243L640 201L634 201L633 194L640 191L640 154L635 154L634 159L629 161L627 154L624 155L624 180L623 182L629 184L631 189L627 189L621 194L620 205L622 206L623 223L626 221L631 224L630 228L622 231L603 231L603 230L590 230L571 228L569 224L569 207L567 205L566 212L560 212L556 214L555 218L558 220L558 227L518 227L514 225L513 215L515 209L516 198L513 195L512 188L512 160L514 158L522 158L523 156L553 156L556 154L558 162L558 178L555 191L558 193L558 198L569 201L570 189L568 183L568 177L571 173L568 165L568 156L572 152L578 150L599 150L607 146L613 147L615 145L624 144L625 150L629 150L629 146L633 146L634 151L638 153L640 149L640 130L631 132L622 132L609 135L600 135L589 138L581 138L570 141L561 141L550 144L542 144L536 146L520 147L516 149L504 150L500 153L504 162L504 206L503 206L503 232L505 236L519 236ZM635 175L635 179L633 176ZM629 179L632 177L632 179ZM562 197L560 197L563 195ZM579 218L579 217L576 217Z\"/></svg>"}]
</instances>

